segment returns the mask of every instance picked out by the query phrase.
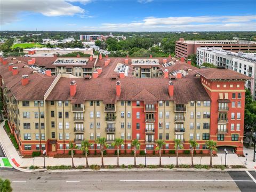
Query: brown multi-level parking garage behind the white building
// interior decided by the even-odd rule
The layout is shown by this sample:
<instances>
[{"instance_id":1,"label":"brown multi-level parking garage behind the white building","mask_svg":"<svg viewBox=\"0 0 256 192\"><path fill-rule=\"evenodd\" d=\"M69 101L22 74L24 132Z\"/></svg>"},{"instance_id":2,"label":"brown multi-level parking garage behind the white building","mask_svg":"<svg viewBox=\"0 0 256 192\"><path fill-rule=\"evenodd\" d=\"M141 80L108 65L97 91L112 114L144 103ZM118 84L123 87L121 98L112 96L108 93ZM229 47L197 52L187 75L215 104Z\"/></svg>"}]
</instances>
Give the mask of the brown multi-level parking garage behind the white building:
<instances>
[{"instance_id":1,"label":"brown multi-level parking garage behind the white building","mask_svg":"<svg viewBox=\"0 0 256 192\"><path fill-rule=\"evenodd\" d=\"M221 47L223 50L233 52L256 52L256 42L253 41L235 41L235 40L200 40L200 41L185 41L180 38L175 43L175 56L186 59L190 54L196 54L198 47Z\"/></svg>"}]
</instances>

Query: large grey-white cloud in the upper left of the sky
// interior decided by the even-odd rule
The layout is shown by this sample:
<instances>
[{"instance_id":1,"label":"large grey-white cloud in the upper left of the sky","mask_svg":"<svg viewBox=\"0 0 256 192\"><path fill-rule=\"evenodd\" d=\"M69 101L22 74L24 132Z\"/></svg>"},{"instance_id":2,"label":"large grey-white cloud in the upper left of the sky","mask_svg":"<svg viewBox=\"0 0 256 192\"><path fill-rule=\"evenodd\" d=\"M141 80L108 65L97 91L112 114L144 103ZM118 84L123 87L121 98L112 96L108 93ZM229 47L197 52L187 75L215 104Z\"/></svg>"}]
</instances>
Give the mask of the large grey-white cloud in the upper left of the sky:
<instances>
[{"instance_id":1,"label":"large grey-white cloud in the upper left of the sky","mask_svg":"<svg viewBox=\"0 0 256 192\"><path fill-rule=\"evenodd\" d=\"M18 14L22 12L41 13L47 17L85 14L84 9L72 2L85 4L90 0L1 0L1 25L18 21Z\"/></svg>"}]
</instances>

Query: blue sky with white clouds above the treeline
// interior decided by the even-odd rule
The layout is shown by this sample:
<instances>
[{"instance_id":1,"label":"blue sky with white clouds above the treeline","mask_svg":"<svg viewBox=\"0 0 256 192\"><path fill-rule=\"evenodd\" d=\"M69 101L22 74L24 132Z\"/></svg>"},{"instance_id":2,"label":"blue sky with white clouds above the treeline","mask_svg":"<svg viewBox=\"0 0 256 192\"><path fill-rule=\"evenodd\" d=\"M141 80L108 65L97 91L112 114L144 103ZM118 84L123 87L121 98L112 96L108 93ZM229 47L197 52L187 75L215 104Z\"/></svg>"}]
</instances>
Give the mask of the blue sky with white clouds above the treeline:
<instances>
[{"instance_id":1,"label":"blue sky with white clouds above the treeline","mask_svg":"<svg viewBox=\"0 0 256 192\"><path fill-rule=\"evenodd\" d=\"M1 30L256 30L256 1L1 0Z\"/></svg>"}]
</instances>

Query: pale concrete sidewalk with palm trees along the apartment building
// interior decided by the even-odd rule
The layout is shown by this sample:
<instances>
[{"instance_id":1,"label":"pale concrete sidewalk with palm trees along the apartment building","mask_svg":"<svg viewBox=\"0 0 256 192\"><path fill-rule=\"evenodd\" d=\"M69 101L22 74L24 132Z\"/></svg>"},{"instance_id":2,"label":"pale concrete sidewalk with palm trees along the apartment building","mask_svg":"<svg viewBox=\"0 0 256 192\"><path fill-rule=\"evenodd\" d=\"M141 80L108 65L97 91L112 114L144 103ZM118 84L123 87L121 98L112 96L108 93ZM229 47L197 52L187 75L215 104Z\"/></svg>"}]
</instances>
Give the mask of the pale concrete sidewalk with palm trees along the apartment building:
<instances>
[{"instance_id":1,"label":"pale concrete sidewalk with palm trees along the apartment building","mask_svg":"<svg viewBox=\"0 0 256 192\"><path fill-rule=\"evenodd\" d=\"M6 156L9 158L11 165L17 168L17 164L15 165L12 159L20 165L20 167L29 167L31 165L35 166L43 166L44 159L43 157L35 157L35 158L20 158L17 150L13 147L11 140L5 133L3 129L4 123L1 123L0 127L0 143L5 151ZM246 149L245 149L246 150ZM247 165L245 165L249 169L255 169L254 166L256 164L252 162L252 151L246 150L245 153L249 153L247 158ZM100 157L89 157L88 158L89 165L98 164L101 165L101 158ZM145 157L137 157L136 158L137 165L145 164ZM191 157L178 157L179 164L191 164ZM227 165L244 165L245 157L238 157L236 154L228 154L227 155ZM74 158L74 164L77 165L86 165L85 157L83 158ZM104 158L105 165L116 165L117 158L116 157L105 157ZM119 165L133 165L134 158L133 157L119 157ZM159 157L147 157L146 158L147 165L158 165L159 164ZM176 157L162 157L162 164L169 165L169 164L176 164ZM194 164L202 164L202 165L209 165L210 164L210 157L194 157ZM225 165L225 154L218 154L217 157L212 158L213 165ZM71 158L53 158L53 157L46 157L45 158L45 165L46 166L54 166L54 165L71 165Z\"/></svg>"}]
</instances>

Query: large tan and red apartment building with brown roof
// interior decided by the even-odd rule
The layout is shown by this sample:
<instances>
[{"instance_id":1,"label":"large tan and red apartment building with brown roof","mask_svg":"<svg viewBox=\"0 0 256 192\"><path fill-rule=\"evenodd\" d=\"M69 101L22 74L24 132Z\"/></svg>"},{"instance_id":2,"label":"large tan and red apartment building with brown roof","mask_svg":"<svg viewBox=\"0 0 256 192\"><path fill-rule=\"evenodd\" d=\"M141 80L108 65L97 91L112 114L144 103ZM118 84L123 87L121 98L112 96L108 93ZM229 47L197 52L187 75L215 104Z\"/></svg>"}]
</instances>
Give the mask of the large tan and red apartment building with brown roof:
<instances>
[{"instance_id":1,"label":"large tan and red apartment building with brown roof","mask_svg":"<svg viewBox=\"0 0 256 192\"><path fill-rule=\"evenodd\" d=\"M99 58L92 76L76 77L52 75L36 60L1 58L4 111L20 153L68 153L69 142L79 149L83 140L90 141L90 153L99 153L96 141L105 137L107 153L114 153L110 144L122 138L121 153L131 153L134 139L148 153L158 139L165 141L166 151L180 139L184 150L196 140L196 152L209 153L205 141L214 140L243 154L244 83L250 77L229 69L198 69L184 58L158 58L161 73L153 77L153 70L151 78L143 78L133 75L133 63L149 62L151 68L156 60L134 59Z\"/></svg>"}]
</instances>

